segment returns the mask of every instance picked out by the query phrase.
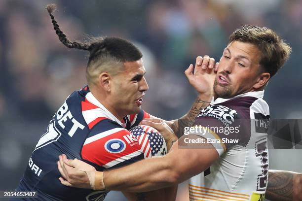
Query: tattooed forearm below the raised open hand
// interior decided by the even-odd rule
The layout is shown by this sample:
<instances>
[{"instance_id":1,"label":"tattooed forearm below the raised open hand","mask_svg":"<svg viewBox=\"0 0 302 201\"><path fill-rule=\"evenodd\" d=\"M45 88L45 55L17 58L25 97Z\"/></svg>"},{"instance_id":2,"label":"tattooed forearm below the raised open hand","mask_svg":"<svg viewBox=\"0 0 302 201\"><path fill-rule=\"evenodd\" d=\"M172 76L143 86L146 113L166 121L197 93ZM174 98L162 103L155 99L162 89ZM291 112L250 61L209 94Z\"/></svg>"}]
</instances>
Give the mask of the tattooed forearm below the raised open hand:
<instances>
[{"instance_id":1,"label":"tattooed forearm below the raised open hand","mask_svg":"<svg viewBox=\"0 0 302 201\"><path fill-rule=\"evenodd\" d=\"M209 104L210 102L197 98L189 112L173 123L171 128L174 133L178 136L178 138L183 136L185 127L193 126L194 121L197 115L199 114L200 110L206 108L207 106L209 106Z\"/></svg>"}]
</instances>

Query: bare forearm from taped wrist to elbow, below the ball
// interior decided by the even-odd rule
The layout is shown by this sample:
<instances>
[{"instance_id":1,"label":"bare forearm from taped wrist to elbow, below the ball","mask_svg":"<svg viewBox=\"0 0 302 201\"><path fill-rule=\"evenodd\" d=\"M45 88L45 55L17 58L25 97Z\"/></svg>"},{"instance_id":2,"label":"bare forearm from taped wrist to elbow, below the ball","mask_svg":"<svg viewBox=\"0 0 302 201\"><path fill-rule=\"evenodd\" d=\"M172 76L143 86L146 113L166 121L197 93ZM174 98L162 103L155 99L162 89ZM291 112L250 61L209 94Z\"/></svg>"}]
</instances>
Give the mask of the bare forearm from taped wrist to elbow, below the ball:
<instances>
[{"instance_id":1,"label":"bare forearm from taped wrist to elbow, below the ball","mask_svg":"<svg viewBox=\"0 0 302 201\"><path fill-rule=\"evenodd\" d=\"M108 190L145 192L171 186L176 177L170 158L158 157L104 171L103 181Z\"/></svg>"}]
</instances>

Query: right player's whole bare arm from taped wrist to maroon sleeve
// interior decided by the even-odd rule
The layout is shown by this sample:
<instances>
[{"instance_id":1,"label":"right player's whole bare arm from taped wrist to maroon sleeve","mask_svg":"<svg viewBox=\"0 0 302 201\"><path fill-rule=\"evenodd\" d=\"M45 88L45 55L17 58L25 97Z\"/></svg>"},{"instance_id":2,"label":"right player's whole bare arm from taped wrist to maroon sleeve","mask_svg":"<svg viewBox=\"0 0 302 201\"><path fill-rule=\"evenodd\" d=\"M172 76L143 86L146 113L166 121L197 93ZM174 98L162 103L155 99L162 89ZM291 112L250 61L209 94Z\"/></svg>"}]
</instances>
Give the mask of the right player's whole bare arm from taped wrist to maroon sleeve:
<instances>
[{"instance_id":1,"label":"right player's whole bare arm from taped wrist to maroon sleeve","mask_svg":"<svg viewBox=\"0 0 302 201\"><path fill-rule=\"evenodd\" d=\"M171 152L163 157L150 158L126 167L104 171L103 181L107 190L128 192L157 190L183 182L204 171L218 157L214 147L180 150L176 142Z\"/></svg>"}]
</instances>

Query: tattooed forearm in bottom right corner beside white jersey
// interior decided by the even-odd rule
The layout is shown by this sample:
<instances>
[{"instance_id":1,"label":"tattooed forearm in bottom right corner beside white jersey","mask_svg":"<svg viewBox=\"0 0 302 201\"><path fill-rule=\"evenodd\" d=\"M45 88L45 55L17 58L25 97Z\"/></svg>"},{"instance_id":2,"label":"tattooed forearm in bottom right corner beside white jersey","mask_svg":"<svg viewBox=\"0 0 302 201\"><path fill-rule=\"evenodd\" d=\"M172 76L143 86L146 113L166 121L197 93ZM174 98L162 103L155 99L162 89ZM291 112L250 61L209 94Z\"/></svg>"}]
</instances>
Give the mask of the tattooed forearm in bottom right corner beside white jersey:
<instances>
[{"instance_id":1,"label":"tattooed forearm in bottom right corner beside white jersey","mask_svg":"<svg viewBox=\"0 0 302 201\"><path fill-rule=\"evenodd\" d=\"M272 201L291 201L293 178L294 174L290 171L269 171L265 198Z\"/></svg>"}]
</instances>

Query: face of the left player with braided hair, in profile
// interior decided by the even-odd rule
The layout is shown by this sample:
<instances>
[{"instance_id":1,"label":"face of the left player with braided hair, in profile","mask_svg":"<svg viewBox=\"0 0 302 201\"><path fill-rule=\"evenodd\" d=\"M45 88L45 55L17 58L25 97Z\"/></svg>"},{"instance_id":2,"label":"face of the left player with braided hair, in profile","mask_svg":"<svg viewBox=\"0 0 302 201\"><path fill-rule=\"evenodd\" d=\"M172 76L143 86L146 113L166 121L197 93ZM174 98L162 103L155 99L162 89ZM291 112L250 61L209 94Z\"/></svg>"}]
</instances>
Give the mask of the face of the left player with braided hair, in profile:
<instances>
[{"instance_id":1,"label":"face of the left player with braided hair, in profile","mask_svg":"<svg viewBox=\"0 0 302 201\"><path fill-rule=\"evenodd\" d=\"M141 111L141 104L145 91L149 89L145 79L143 60L125 62L124 71L113 79L113 102L123 114L137 114Z\"/></svg>"}]
</instances>

